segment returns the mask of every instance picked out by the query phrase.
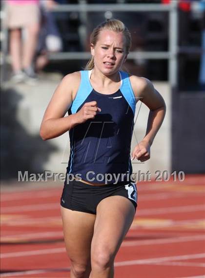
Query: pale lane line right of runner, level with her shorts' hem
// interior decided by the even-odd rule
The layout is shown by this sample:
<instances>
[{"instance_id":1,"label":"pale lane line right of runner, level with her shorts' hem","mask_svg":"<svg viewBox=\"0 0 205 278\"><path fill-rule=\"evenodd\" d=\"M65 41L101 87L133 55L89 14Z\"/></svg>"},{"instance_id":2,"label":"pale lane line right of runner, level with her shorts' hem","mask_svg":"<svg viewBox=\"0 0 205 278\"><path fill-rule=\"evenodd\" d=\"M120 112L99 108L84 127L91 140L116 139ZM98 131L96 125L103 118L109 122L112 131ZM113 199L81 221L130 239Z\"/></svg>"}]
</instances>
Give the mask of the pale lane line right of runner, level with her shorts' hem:
<instances>
[{"instance_id":1,"label":"pale lane line right of runner, level with her shorts' hem","mask_svg":"<svg viewBox=\"0 0 205 278\"><path fill-rule=\"evenodd\" d=\"M191 211L205 210L205 205L192 205L192 206L181 206L181 207L168 207L168 208L157 208L157 209L139 209L136 215L156 215L156 214L167 214L167 213L183 213Z\"/></svg>"}]
</instances>

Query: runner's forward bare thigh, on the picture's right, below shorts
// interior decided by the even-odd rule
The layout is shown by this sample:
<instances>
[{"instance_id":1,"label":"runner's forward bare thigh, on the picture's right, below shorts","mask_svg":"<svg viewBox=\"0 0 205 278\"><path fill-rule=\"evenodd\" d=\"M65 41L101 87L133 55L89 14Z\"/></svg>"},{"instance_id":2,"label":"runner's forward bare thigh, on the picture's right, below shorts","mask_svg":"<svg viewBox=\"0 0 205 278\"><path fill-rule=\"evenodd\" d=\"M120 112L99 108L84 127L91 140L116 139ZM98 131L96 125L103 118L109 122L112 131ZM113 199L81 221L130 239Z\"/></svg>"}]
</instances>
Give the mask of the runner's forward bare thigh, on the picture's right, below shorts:
<instances>
[{"instance_id":1,"label":"runner's forward bare thigh, on the picture's right, below shorts","mask_svg":"<svg viewBox=\"0 0 205 278\"><path fill-rule=\"evenodd\" d=\"M114 258L128 232L135 208L123 196L104 198L97 207L94 235L91 245L91 261L100 255Z\"/></svg>"}]
</instances>

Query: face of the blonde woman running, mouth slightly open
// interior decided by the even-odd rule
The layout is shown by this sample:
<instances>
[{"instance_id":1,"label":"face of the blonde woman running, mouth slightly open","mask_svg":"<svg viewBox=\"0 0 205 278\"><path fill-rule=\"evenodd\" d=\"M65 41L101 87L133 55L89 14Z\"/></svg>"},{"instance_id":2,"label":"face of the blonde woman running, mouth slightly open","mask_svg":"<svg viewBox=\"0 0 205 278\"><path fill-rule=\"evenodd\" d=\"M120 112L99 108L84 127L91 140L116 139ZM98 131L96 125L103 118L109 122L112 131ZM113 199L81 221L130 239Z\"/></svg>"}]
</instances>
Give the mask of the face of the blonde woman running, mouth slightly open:
<instances>
[{"instance_id":1,"label":"face of the blonde woman running, mouth slightly open","mask_svg":"<svg viewBox=\"0 0 205 278\"><path fill-rule=\"evenodd\" d=\"M125 38L123 33L102 30L96 46L91 46L95 67L103 74L110 75L117 72L126 59Z\"/></svg>"}]
</instances>

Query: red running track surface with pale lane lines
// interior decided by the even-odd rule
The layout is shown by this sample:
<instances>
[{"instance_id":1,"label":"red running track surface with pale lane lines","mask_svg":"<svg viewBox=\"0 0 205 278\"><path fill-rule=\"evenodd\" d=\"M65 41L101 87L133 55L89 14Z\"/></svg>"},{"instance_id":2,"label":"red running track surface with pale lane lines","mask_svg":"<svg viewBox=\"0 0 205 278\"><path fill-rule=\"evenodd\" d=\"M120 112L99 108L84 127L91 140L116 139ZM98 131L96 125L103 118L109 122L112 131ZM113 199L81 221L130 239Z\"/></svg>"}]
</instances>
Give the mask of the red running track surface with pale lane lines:
<instances>
[{"instance_id":1,"label":"red running track surface with pale lane lines","mask_svg":"<svg viewBox=\"0 0 205 278\"><path fill-rule=\"evenodd\" d=\"M115 278L205 277L204 190L205 176L139 183L136 217L116 257ZM70 277L61 193L62 187L3 191L1 277Z\"/></svg>"}]
</instances>

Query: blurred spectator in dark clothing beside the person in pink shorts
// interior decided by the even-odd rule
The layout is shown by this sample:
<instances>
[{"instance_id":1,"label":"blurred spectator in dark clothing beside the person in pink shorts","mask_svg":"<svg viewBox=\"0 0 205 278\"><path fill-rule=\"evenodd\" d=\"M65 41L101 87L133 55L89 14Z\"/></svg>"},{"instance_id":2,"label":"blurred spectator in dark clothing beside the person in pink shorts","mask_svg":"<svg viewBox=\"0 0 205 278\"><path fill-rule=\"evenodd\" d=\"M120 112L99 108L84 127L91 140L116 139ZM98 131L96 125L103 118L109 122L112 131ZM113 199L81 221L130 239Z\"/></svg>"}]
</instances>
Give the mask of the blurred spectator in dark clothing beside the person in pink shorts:
<instances>
[{"instance_id":1,"label":"blurred spectator in dark clothing beside the person in pink shorts","mask_svg":"<svg viewBox=\"0 0 205 278\"><path fill-rule=\"evenodd\" d=\"M48 64L49 52L62 50L62 38L58 30L52 9L58 2L54 0L41 0L41 30L36 54L36 70L42 70Z\"/></svg>"}]
</instances>

